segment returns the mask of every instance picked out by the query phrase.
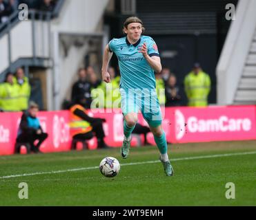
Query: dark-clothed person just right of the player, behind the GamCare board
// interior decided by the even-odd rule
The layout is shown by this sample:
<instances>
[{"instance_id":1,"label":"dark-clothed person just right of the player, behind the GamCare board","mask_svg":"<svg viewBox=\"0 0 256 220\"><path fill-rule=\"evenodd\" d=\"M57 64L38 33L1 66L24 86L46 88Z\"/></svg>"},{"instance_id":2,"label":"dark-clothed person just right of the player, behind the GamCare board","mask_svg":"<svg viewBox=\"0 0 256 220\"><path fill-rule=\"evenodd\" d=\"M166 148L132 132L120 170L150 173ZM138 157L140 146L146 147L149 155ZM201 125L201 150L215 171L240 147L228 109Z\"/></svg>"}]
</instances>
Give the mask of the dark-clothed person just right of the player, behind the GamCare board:
<instances>
[{"instance_id":1,"label":"dark-clothed person just right of the player, behind the GamCare board","mask_svg":"<svg viewBox=\"0 0 256 220\"><path fill-rule=\"evenodd\" d=\"M166 107L180 106L181 96L175 74L170 74L166 83Z\"/></svg>"}]
</instances>

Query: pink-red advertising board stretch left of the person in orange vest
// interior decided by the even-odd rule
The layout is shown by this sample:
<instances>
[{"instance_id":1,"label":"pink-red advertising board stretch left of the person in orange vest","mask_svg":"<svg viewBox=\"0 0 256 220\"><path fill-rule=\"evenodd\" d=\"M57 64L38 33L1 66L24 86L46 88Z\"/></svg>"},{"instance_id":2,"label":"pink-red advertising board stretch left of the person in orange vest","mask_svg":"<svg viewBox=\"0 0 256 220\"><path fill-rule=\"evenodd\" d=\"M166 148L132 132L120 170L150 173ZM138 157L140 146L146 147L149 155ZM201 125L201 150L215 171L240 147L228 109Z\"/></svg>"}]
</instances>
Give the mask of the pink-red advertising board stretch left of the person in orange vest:
<instances>
[{"instance_id":1,"label":"pink-red advertising board stretch left of the person in orange vest","mask_svg":"<svg viewBox=\"0 0 256 220\"><path fill-rule=\"evenodd\" d=\"M39 120L44 132L49 137L41 145L41 151L57 152L70 150L69 112L68 111L41 111ZM0 113L0 155L14 153L14 144L17 137L21 113Z\"/></svg>"}]
</instances>

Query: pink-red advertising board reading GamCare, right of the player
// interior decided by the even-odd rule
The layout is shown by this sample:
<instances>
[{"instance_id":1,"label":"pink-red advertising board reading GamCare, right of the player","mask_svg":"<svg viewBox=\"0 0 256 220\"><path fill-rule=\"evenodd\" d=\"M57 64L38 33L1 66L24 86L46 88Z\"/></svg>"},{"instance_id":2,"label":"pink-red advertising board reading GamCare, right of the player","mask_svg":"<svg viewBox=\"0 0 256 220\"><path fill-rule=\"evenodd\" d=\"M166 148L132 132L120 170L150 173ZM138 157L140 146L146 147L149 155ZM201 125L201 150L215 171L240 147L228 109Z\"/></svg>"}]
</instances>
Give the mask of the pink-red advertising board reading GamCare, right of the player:
<instances>
[{"instance_id":1,"label":"pink-red advertising board reading GamCare, right of the player","mask_svg":"<svg viewBox=\"0 0 256 220\"><path fill-rule=\"evenodd\" d=\"M168 109L173 143L256 139L255 107Z\"/></svg>"}]
</instances>

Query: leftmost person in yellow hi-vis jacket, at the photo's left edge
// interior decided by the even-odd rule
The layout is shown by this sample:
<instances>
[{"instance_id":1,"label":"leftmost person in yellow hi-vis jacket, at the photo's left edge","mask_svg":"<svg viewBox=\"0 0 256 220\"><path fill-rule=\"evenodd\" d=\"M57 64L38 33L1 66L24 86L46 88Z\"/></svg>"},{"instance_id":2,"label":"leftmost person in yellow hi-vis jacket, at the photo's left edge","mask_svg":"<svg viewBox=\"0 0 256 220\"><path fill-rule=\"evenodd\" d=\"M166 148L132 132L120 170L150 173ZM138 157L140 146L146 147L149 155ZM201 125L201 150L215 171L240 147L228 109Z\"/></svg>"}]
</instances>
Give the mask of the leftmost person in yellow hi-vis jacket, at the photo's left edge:
<instances>
[{"instance_id":1,"label":"leftmost person in yellow hi-vis jacket, at the photo's left edge","mask_svg":"<svg viewBox=\"0 0 256 220\"><path fill-rule=\"evenodd\" d=\"M0 84L0 109L3 111L20 111L17 104L19 100L19 87L14 83L13 75L6 74L6 80Z\"/></svg>"}]
</instances>

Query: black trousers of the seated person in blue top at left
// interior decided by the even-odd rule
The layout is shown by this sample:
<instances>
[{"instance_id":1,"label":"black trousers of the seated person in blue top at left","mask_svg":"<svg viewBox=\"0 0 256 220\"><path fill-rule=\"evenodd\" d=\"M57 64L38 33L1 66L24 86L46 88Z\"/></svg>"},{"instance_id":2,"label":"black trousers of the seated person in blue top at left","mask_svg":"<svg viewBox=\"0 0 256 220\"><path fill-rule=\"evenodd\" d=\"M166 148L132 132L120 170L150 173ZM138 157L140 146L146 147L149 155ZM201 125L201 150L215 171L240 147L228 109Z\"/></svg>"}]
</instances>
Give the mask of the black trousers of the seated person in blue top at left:
<instances>
[{"instance_id":1,"label":"black trousers of the seated person in blue top at left","mask_svg":"<svg viewBox=\"0 0 256 220\"><path fill-rule=\"evenodd\" d=\"M16 141L19 143L29 143L31 146L31 151L35 151L39 149L39 147L46 140L47 137L48 133L41 133L39 135L37 133L21 133L17 137ZM36 140L39 141L37 145L34 144Z\"/></svg>"}]
</instances>

